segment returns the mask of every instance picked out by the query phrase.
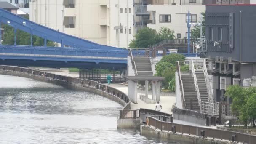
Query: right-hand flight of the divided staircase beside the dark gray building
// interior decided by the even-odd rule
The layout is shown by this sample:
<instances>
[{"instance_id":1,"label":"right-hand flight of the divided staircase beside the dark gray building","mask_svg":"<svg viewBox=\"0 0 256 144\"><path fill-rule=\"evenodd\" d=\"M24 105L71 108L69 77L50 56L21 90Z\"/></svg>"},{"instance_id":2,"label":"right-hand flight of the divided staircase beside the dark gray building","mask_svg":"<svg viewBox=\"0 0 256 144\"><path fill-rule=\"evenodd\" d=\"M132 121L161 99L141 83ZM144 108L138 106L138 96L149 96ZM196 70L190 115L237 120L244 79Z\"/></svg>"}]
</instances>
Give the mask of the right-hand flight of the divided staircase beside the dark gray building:
<instances>
[{"instance_id":1,"label":"right-hand flight of the divided staircase beside the dark gray building","mask_svg":"<svg viewBox=\"0 0 256 144\"><path fill-rule=\"evenodd\" d=\"M195 70L197 76L197 85L200 92L201 101L208 101L208 89L205 82L205 76L203 70Z\"/></svg>"}]
</instances>

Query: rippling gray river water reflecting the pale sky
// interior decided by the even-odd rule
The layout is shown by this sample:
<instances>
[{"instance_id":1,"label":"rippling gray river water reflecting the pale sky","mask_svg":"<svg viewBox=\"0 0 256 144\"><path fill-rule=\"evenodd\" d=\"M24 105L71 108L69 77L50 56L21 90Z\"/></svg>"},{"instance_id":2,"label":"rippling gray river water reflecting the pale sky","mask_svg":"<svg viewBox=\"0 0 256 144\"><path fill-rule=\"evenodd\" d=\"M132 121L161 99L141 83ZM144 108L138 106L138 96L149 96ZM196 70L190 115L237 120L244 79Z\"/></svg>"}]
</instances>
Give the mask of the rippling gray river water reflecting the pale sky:
<instances>
[{"instance_id":1,"label":"rippling gray river water reflecting the pale sky","mask_svg":"<svg viewBox=\"0 0 256 144\"><path fill-rule=\"evenodd\" d=\"M167 143L117 129L121 108L93 93L0 75L0 144Z\"/></svg>"}]
</instances>

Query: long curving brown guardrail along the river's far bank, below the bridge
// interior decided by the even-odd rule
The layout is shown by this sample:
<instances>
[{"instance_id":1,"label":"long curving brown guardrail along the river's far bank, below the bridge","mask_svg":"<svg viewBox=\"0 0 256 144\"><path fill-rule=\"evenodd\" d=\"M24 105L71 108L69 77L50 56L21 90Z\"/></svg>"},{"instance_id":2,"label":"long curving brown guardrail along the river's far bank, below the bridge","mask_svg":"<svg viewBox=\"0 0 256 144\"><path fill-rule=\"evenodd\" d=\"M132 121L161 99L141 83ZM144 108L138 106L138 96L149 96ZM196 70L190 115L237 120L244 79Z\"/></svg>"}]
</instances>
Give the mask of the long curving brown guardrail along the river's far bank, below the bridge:
<instances>
[{"instance_id":1,"label":"long curving brown guardrail along the river's far bank, below the bridge","mask_svg":"<svg viewBox=\"0 0 256 144\"><path fill-rule=\"evenodd\" d=\"M90 88L96 88L100 91L104 91L105 93L108 93L113 96L117 96L118 98L122 99L126 103L122 110L130 110L131 109L131 101L125 93L117 90L116 88L112 88L107 85L97 83L96 81L93 81L93 80L56 75L56 74L52 74L52 73L48 73L48 72L42 72L42 71L27 69L27 68L23 68L23 67L0 66L0 70L11 71L11 72L21 72L21 73L26 73L29 75L34 75L37 77L45 77L48 79L65 81L67 83L75 83L75 84L84 85L84 86L87 86Z\"/></svg>"}]
</instances>

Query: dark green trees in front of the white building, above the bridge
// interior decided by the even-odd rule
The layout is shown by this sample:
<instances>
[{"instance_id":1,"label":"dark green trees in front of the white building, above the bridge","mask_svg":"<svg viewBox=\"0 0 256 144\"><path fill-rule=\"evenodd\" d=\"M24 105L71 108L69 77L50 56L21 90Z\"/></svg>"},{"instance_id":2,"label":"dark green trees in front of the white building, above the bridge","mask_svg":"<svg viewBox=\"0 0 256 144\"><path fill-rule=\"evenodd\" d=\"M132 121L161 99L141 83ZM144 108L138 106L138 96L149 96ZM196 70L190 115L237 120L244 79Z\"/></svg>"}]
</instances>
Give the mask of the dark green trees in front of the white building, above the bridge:
<instances>
[{"instance_id":1,"label":"dark green trees in front of the white building, above the bridge","mask_svg":"<svg viewBox=\"0 0 256 144\"><path fill-rule=\"evenodd\" d=\"M150 45L154 45L165 39L174 39L174 31L167 27L161 27L157 33L155 29L145 27L140 29L134 36L135 40L131 40L129 48L148 48Z\"/></svg>"}]
</instances>

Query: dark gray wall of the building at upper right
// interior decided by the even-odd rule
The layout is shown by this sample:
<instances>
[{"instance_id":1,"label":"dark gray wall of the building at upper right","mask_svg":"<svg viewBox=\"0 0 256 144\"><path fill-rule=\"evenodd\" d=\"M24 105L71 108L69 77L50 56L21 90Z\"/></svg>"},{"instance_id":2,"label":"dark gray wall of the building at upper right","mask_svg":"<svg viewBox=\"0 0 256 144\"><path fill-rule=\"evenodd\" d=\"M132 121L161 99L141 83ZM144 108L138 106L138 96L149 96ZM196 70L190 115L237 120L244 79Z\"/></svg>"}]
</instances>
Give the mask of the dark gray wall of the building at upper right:
<instances>
[{"instance_id":1,"label":"dark gray wall of the building at upper right","mask_svg":"<svg viewBox=\"0 0 256 144\"><path fill-rule=\"evenodd\" d=\"M211 58L224 57L228 60L256 62L256 5L206 5L206 40L207 54ZM241 21L240 21L241 11ZM234 13L233 41L234 48L229 47L228 29L229 13ZM241 24L240 24L241 23ZM241 26L241 33L240 33ZM209 27L213 29L213 41L210 41ZM222 45L213 46L218 42L218 28L222 28ZM241 40L240 40L241 38ZM240 43L241 41L241 43ZM241 44L241 53L240 53ZM240 55L241 54L241 55Z\"/></svg>"}]
</instances>

